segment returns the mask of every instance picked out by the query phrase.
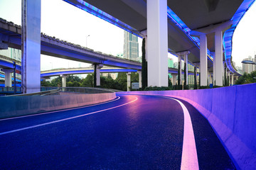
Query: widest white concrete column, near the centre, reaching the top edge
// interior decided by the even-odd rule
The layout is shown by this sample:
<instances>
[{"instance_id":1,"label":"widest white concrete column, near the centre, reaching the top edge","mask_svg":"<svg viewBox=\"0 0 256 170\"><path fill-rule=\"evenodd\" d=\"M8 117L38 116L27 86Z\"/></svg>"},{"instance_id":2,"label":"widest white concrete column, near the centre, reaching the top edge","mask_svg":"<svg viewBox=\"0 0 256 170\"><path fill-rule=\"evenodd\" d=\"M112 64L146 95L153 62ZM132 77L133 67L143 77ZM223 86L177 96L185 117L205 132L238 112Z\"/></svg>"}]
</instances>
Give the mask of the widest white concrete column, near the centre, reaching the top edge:
<instances>
[{"instance_id":1,"label":"widest white concrete column, near the centre, reaching the top edge","mask_svg":"<svg viewBox=\"0 0 256 170\"><path fill-rule=\"evenodd\" d=\"M147 0L148 86L168 86L167 0Z\"/></svg>"}]
</instances>

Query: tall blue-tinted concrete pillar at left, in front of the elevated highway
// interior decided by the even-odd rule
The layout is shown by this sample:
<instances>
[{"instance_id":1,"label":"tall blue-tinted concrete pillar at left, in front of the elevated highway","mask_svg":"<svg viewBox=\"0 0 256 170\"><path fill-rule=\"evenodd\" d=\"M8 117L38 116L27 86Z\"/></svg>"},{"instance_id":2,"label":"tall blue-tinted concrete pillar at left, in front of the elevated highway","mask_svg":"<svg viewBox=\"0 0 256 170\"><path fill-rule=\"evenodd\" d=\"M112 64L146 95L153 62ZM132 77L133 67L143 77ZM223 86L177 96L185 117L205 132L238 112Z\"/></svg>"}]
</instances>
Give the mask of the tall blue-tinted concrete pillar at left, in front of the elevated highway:
<instances>
[{"instance_id":1,"label":"tall blue-tinted concrete pillar at left, in front of the elevated highway","mask_svg":"<svg viewBox=\"0 0 256 170\"><path fill-rule=\"evenodd\" d=\"M41 91L41 0L22 0L23 93Z\"/></svg>"}]
</instances>

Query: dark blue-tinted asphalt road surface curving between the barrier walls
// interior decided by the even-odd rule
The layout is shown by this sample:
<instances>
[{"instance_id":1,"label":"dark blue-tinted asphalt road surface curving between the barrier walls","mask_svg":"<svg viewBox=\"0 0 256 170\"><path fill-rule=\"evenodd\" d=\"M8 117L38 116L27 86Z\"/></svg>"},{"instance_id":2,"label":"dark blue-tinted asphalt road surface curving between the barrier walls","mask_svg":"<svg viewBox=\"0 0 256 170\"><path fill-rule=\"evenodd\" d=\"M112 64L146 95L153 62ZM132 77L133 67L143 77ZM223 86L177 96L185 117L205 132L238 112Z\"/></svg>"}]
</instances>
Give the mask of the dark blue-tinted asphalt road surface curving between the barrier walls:
<instances>
[{"instance_id":1,"label":"dark blue-tinted asphalt road surface curving between the barrier walls","mask_svg":"<svg viewBox=\"0 0 256 170\"><path fill-rule=\"evenodd\" d=\"M199 169L235 169L207 120L181 102L196 146L188 159ZM181 169L182 159L190 164L183 141L193 141L183 140L184 115L174 99L124 95L96 106L0 120L0 169Z\"/></svg>"}]
</instances>

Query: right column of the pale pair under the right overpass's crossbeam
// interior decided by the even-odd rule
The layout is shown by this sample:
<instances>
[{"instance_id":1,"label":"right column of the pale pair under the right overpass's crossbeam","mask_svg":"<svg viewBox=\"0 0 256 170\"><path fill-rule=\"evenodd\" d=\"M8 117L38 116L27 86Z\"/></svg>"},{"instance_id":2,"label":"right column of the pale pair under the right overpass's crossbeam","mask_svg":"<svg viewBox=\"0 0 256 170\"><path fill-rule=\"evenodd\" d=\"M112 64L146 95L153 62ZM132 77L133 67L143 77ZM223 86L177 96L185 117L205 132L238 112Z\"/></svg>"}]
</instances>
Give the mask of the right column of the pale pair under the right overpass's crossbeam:
<instances>
[{"instance_id":1,"label":"right column of the pale pair under the right overpass's crossbeam","mask_svg":"<svg viewBox=\"0 0 256 170\"><path fill-rule=\"evenodd\" d=\"M215 32L215 82L223 86L223 34L222 30Z\"/></svg>"}]
</instances>

